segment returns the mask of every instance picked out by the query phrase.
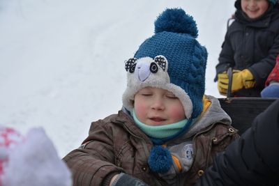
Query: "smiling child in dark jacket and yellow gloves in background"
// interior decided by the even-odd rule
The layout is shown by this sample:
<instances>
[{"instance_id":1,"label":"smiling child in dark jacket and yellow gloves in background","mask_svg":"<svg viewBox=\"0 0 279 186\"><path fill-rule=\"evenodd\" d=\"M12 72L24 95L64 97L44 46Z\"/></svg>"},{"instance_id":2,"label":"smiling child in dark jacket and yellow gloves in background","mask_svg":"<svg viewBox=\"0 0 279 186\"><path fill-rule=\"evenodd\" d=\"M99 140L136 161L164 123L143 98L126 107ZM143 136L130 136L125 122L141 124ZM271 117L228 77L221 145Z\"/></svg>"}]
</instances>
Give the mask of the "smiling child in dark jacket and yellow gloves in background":
<instances>
[{"instance_id":1,"label":"smiling child in dark jacket and yellow gloves in background","mask_svg":"<svg viewBox=\"0 0 279 186\"><path fill-rule=\"evenodd\" d=\"M216 65L220 94L228 89L227 69L233 68L235 97L260 97L279 50L277 0L236 0L235 21L227 29Z\"/></svg>"}]
</instances>

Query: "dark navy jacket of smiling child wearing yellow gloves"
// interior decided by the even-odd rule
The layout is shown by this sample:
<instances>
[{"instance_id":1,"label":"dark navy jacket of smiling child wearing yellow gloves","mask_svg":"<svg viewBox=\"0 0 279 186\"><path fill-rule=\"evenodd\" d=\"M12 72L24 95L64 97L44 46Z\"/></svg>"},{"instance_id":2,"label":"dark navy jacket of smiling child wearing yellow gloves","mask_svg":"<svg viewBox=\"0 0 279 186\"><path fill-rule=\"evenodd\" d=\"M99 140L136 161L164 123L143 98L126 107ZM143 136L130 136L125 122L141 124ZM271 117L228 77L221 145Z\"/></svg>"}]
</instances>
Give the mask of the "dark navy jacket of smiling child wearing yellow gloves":
<instances>
[{"instance_id":1,"label":"dark navy jacket of smiling child wearing yellow gloves","mask_svg":"<svg viewBox=\"0 0 279 186\"><path fill-rule=\"evenodd\" d=\"M266 13L257 20L250 20L242 12L240 1L236 1L235 5L235 21L227 29L216 72L218 75L229 67L250 70L256 81L255 87L243 88L234 95L259 97L279 52L278 4L269 6Z\"/></svg>"}]
</instances>

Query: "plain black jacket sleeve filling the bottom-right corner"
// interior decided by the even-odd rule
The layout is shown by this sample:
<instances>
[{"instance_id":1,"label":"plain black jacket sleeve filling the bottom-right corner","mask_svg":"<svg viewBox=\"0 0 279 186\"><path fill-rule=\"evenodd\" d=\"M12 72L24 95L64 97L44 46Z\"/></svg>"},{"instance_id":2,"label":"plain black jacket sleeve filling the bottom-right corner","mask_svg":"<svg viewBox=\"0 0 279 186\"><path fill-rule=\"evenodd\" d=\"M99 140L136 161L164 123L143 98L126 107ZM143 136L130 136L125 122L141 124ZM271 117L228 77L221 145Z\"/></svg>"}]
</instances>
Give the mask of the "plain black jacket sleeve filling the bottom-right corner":
<instances>
[{"instance_id":1,"label":"plain black jacket sleeve filling the bottom-right corner","mask_svg":"<svg viewBox=\"0 0 279 186\"><path fill-rule=\"evenodd\" d=\"M279 183L279 100L241 138L220 153L199 185L276 185Z\"/></svg>"}]
</instances>

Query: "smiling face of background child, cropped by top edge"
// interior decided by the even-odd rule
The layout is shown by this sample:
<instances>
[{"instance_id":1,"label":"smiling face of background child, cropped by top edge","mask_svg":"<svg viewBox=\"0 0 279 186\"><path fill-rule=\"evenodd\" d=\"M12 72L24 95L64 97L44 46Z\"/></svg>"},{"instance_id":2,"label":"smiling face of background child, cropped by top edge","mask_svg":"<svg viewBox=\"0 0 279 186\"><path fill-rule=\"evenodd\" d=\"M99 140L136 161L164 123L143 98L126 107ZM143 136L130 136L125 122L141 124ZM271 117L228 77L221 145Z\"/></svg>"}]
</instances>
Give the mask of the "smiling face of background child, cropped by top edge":
<instances>
[{"instance_id":1,"label":"smiling face of background child, cropped by top edge","mask_svg":"<svg viewBox=\"0 0 279 186\"><path fill-rule=\"evenodd\" d=\"M267 0L241 0L241 9L251 19L263 15L268 8L269 2Z\"/></svg>"}]
</instances>

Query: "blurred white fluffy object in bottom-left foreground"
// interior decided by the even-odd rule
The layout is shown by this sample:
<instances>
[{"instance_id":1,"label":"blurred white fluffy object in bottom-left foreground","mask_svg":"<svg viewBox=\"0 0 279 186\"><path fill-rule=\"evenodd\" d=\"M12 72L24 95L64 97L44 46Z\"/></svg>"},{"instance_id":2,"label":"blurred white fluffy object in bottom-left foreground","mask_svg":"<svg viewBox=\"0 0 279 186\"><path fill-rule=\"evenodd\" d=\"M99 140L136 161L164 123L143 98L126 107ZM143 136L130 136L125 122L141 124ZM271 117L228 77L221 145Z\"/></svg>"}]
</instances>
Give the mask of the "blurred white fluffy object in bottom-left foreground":
<instances>
[{"instance_id":1,"label":"blurred white fluffy object in bottom-left foreground","mask_svg":"<svg viewBox=\"0 0 279 186\"><path fill-rule=\"evenodd\" d=\"M8 148L2 181L3 186L72 185L70 170L43 128L29 130L23 141Z\"/></svg>"}]
</instances>

